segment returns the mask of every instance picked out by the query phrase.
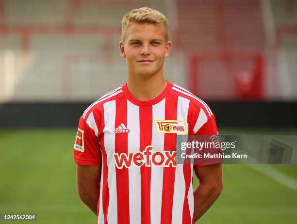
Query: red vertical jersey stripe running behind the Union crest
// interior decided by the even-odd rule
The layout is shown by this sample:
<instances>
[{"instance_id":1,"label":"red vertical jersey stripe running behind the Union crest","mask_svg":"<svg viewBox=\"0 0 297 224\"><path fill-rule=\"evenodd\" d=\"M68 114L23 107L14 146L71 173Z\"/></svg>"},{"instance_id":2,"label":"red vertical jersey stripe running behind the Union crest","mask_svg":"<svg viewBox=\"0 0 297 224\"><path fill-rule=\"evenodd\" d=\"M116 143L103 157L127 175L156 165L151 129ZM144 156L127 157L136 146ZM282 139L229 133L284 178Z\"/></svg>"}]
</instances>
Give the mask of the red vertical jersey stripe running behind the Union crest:
<instances>
[{"instance_id":1,"label":"red vertical jersey stripe running behind the Union crest","mask_svg":"<svg viewBox=\"0 0 297 224\"><path fill-rule=\"evenodd\" d=\"M177 95L168 95L165 101L165 120L177 120ZM164 150L176 150L176 134L164 134ZM164 167L161 224L171 224L175 167Z\"/></svg>"}]
</instances>

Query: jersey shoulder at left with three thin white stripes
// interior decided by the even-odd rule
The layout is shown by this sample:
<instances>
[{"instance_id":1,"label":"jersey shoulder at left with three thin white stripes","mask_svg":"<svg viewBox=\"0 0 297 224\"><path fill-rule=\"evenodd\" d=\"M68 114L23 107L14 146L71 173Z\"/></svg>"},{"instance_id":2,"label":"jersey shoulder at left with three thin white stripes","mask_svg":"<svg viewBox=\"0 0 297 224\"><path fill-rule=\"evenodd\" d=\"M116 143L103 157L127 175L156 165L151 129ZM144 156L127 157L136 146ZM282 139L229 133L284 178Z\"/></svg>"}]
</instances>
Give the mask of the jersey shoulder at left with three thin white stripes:
<instances>
[{"instance_id":1,"label":"jersey shoulder at left with three thin white stripes","mask_svg":"<svg viewBox=\"0 0 297 224\"><path fill-rule=\"evenodd\" d=\"M112 101L115 98L119 97L120 94L123 92L122 86L117 87L116 89L104 94L101 96L98 100L90 104L85 111L82 114L83 119L86 119L91 113L94 115L94 113L99 114L100 108L102 108L102 105L108 101Z\"/></svg>"}]
</instances>

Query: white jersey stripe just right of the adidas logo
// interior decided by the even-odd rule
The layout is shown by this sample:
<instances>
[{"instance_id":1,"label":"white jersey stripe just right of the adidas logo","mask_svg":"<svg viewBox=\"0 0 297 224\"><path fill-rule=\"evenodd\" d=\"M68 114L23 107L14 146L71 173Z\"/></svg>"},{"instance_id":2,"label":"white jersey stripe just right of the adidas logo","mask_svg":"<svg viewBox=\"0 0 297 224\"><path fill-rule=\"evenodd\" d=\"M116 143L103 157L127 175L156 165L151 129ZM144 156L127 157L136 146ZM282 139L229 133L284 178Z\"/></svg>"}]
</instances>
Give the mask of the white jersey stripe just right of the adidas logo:
<instances>
[{"instance_id":1,"label":"white jersey stripe just right of the adidas logo","mask_svg":"<svg viewBox=\"0 0 297 224\"><path fill-rule=\"evenodd\" d=\"M127 100L128 153L140 151L139 142L139 106ZM126 127L125 127L126 128ZM126 128L127 129L127 128ZM141 174L140 166L129 167L129 215L130 223L141 224Z\"/></svg>"}]
</instances>

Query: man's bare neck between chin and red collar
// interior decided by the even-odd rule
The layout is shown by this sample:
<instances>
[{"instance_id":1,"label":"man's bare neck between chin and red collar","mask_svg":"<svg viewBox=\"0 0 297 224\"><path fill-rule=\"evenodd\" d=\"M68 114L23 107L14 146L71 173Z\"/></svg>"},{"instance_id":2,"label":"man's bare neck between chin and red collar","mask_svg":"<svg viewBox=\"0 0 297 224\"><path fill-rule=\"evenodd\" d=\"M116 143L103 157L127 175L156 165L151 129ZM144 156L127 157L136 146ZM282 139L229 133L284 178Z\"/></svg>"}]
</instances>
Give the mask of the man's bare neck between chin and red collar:
<instances>
[{"instance_id":1,"label":"man's bare neck between chin and red collar","mask_svg":"<svg viewBox=\"0 0 297 224\"><path fill-rule=\"evenodd\" d=\"M132 96L139 100L150 100L159 96L166 88L167 81L162 76L128 76L127 87Z\"/></svg>"}]
</instances>

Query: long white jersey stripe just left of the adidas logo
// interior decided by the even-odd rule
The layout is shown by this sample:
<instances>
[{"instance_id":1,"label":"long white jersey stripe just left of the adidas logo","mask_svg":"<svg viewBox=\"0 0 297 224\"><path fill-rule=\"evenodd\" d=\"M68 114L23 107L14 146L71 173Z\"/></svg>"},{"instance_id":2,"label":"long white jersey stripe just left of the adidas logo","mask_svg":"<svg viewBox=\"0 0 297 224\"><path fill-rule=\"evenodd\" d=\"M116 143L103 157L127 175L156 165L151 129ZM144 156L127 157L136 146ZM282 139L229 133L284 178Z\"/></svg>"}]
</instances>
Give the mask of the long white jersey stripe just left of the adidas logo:
<instances>
[{"instance_id":1,"label":"long white jersey stripe just left of the adidas logo","mask_svg":"<svg viewBox=\"0 0 297 224\"><path fill-rule=\"evenodd\" d=\"M104 108L104 146L107 154L108 177L107 183L109 188L109 205L107 220L108 223L117 223L117 196L115 180L115 100L103 104Z\"/></svg>"}]
</instances>

